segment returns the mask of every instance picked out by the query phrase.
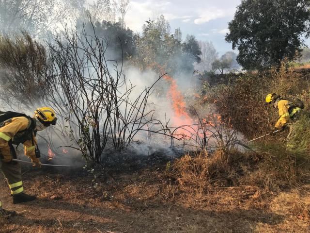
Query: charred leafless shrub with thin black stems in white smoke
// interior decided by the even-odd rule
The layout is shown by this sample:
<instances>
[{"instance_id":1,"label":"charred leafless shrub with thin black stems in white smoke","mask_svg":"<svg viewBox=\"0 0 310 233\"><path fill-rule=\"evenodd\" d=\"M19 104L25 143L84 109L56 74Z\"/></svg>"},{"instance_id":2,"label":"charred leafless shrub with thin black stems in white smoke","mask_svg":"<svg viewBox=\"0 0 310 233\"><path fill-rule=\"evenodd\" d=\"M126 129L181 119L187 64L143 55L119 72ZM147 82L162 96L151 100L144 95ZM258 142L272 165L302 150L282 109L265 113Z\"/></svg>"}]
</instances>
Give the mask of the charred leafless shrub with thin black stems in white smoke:
<instances>
[{"instance_id":1,"label":"charred leafless shrub with thin black stems in white smoke","mask_svg":"<svg viewBox=\"0 0 310 233\"><path fill-rule=\"evenodd\" d=\"M154 110L147 109L149 96L162 76L151 86L134 92L123 65L109 59L108 41L93 31L89 35L65 29L62 38L48 44L47 80L55 100L63 100L70 109L66 124L72 141L78 145L74 148L87 161L101 163L108 140L115 149L123 150L140 131L166 133L154 129L163 124L154 118ZM134 93L139 94L133 97Z\"/></svg>"}]
</instances>

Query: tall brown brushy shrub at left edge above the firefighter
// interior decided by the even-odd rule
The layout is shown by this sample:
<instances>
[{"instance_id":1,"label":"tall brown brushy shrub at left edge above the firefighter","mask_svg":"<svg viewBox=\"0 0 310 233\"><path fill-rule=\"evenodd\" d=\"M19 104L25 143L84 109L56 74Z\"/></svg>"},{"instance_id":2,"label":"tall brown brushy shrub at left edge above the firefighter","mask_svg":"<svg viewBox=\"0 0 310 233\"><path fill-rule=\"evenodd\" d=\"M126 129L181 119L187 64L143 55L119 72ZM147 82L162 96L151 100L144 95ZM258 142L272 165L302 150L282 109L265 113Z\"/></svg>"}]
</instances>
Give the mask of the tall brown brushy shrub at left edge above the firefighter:
<instances>
[{"instance_id":1,"label":"tall brown brushy shrub at left edge above the firefighter","mask_svg":"<svg viewBox=\"0 0 310 233\"><path fill-rule=\"evenodd\" d=\"M32 40L28 33L15 38L0 34L1 101L29 107L46 98L50 88L46 63L45 47Z\"/></svg>"}]
</instances>

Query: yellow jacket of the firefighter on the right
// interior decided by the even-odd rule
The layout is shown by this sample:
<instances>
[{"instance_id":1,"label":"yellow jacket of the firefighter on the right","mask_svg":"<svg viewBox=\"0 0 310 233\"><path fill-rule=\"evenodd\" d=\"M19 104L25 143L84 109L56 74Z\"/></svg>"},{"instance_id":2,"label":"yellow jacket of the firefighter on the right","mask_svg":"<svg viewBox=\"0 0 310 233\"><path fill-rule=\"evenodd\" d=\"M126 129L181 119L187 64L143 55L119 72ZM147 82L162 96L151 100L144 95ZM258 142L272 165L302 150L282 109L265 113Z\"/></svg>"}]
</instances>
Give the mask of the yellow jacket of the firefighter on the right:
<instances>
[{"instance_id":1,"label":"yellow jacket of the firefighter on the right","mask_svg":"<svg viewBox=\"0 0 310 233\"><path fill-rule=\"evenodd\" d=\"M276 128L281 129L291 117L294 116L294 114L301 109L294 106L292 107L292 103L288 100L279 100L277 104L278 110L279 110L279 119L275 125ZM289 112L289 109L291 108L291 113Z\"/></svg>"}]
</instances>

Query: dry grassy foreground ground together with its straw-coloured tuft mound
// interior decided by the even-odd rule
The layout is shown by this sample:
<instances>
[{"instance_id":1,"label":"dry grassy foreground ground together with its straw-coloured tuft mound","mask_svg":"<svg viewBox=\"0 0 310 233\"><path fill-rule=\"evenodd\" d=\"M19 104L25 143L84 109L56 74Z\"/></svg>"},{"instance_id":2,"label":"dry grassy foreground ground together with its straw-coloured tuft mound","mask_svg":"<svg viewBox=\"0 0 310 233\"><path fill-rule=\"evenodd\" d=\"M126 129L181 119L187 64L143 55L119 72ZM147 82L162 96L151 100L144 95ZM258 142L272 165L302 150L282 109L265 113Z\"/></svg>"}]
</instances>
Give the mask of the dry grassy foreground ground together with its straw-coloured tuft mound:
<instances>
[{"instance_id":1,"label":"dry grassy foreground ground together with its straw-coloured tuft mound","mask_svg":"<svg viewBox=\"0 0 310 233\"><path fill-rule=\"evenodd\" d=\"M128 233L309 232L310 185L292 182L289 189L278 186L272 191L270 185L263 185L266 177L270 178L263 168L268 163L267 154L204 152L171 163L168 177L165 167L97 176L99 189L92 186L93 176L86 173L29 173L24 182L26 191L37 194L39 200L11 206L5 201L8 192L0 193L8 209L27 210L11 221L0 219L0 232L93 233L95 228ZM273 166L269 164L270 172L276 174L280 165ZM249 175L254 178L257 172L261 177L249 182ZM172 173L179 176L183 186ZM235 183L225 183L225 178ZM285 176L282 180L289 183ZM205 187L198 192L202 182ZM5 185L0 183L0 188L8 191Z\"/></svg>"}]
</instances>

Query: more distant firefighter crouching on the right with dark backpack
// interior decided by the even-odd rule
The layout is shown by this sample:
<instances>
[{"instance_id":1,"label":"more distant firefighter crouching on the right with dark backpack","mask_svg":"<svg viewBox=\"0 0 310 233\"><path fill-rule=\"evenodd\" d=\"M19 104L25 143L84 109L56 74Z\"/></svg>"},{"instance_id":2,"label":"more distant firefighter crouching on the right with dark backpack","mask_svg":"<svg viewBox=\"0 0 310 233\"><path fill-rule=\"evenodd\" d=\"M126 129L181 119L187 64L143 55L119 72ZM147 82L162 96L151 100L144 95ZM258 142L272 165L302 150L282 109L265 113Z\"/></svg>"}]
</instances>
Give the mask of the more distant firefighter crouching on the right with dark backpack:
<instances>
[{"instance_id":1,"label":"more distant firefighter crouching on the right with dark backpack","mask_svg":"<svg viewBox=\"0 0 310 233\"><path fill-rule=\"evenodd\" d=\"M282 98L276 93L268 94L266 96L266 102L272 104L274 108L278 108L279 119L275 124L277 130L282 131L286 126L290 125L290 131L287 136L290 138L294 130L294 123L298 119L301 110L304 108L304 103L297 98L296 100L285 97Z\"/></svg>"}]
</instances>

